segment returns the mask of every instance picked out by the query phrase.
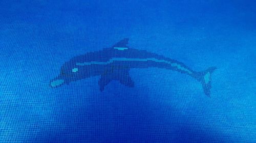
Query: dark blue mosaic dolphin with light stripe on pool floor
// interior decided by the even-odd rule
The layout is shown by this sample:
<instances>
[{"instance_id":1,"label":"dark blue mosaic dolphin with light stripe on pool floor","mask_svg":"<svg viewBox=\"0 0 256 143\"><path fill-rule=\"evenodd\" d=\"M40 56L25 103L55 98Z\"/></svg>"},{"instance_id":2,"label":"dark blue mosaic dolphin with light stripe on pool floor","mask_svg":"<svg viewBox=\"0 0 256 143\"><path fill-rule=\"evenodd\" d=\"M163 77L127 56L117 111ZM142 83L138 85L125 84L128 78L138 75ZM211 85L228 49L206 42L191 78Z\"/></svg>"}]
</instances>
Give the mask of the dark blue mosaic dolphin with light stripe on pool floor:
<instances>
[{"instance_id":1,"label":"dark blue mosaic dolphin with light stripe on pool floor","mask_svg":"<svg viewBox=\"0 0 256 143\"><path fill-rule=\"evenodd\" d=\"M210 96L211 75L216 67L196 72L176 60L146 50L130 48L127 46L128 42L129 39L125 38L110 48L75 56L62 65L60 74L50 81L50 87L56 88L91 76L100 76L98 84L101 92L112 80L118 80L127 87L134 87L134 81L129 75L131 68L163 68L190 75L201 82L204 94Z\"/></svg>"}]
</instances>

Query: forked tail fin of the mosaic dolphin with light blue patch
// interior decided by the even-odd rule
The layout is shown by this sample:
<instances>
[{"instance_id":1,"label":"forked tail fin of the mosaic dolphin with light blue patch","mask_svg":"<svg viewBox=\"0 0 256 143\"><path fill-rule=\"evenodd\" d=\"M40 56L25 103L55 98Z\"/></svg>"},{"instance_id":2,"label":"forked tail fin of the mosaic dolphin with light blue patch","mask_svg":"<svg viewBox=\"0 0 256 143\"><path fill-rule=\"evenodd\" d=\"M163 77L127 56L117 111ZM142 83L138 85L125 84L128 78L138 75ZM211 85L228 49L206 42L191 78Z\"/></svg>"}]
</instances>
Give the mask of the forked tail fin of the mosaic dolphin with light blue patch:
<instances>
[{"instance_id":1,"label":"forked tail fin of the mosaic dolphin with light blue patch","mask_svg":"<svg viewBox=\"0 0 256 143\"><path fill-rule=\"evenodd\" d=\"M204 94L209 97L211 89L211 75L216 69L216 67L211 67L203 72L196 72L194 74L195 78L202 83Z\"/></svg>"}]
</instances>

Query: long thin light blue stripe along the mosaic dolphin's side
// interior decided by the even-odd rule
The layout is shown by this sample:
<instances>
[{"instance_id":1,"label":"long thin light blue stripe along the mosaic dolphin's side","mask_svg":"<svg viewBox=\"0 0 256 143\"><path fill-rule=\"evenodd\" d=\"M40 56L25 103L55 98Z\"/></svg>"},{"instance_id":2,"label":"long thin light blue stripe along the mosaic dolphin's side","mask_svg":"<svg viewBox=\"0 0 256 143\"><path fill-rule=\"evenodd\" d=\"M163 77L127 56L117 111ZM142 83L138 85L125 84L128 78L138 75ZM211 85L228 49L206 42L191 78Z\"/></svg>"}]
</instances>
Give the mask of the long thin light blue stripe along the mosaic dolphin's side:
<instances>
[{"instance_id":1,"label":"long thin light blue stripe along the mosaic dolphin's side","mask_svg":"<svg viewBox=\"0 0 256 143\"><path fill-rule=\"evenodd\" d=\"M158 63L166 63L166 64L170 64L170 66L176 67L177 69L183 70L189 74L193 74L192 71L186 69L185 67L182 67L181 65L177 64L177 63L172 63L169 61L165 61L165 60L159 60L159 59L155 59L155 58L147 58L147 59L139 59L139 58L112 58L107 62L98 62L98 61L92 61L92 62L84 62L84 63L76 63L77 66L85 66L85 65L107 65L110 63L113 63L114 61L139 61L139 62L147 62L147 61L154 61L154 62L158 62Z\"/></svg>"}]
</instances>

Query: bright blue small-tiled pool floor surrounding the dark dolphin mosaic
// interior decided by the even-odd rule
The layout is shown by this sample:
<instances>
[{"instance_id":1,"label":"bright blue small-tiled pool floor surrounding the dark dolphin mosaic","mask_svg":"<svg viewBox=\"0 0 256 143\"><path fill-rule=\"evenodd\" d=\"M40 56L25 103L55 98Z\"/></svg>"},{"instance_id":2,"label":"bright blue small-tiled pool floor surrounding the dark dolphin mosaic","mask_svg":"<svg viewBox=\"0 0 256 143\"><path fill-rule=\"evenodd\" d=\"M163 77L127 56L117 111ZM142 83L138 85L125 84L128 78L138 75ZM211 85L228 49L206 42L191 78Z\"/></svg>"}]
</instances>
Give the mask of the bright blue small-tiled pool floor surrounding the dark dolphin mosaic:
<instances>
[{"instance_id":1,"label":"bright blue small-tiled pool floor surrounding the dark dolphin mosaic","mask_svg":"<svg viewBox=\"0 0 256 143\"><path fill-rule=\"evenodd\" d=\"M0 142L256 142L255 5L0 1ZM73 57L124 38L194 71L217 67L210 96L161 68L130 69L134 87L101 92L100 76L50 87Z\"/></svg>"}]
</instances>

